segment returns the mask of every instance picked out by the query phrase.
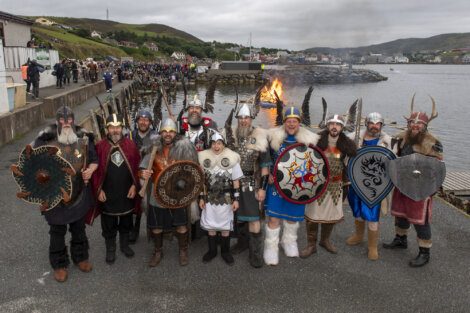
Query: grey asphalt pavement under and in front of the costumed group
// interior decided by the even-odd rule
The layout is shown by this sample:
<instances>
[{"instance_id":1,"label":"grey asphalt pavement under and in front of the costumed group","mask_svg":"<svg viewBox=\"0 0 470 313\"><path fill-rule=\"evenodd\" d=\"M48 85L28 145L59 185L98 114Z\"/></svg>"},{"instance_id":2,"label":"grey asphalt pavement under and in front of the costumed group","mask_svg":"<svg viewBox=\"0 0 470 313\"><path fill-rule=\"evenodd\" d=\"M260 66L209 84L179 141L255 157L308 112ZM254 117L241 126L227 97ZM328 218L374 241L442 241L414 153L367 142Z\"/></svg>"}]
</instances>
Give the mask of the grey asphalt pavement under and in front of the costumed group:
<instances>
[{"instance_id":1,"label":"grey asphalt pavement under and in front of the costumed group","mask_svg":"<svg viewBox=\"0 0 470 313\"><path fill-rule=\"evenodd\" d=\"M117 90L117 87L114 88ZM105 93L100 97L104 98ZM77 116L96 106L96 99L76 109ZM84 115L83 115L84 116ZM176 240L164 242L157 268L147 261L152 247L142 230L136 255L119 251L114 265L104 262L99 220L87 228L94 269L89 274L70 267L69 280L56 283L48 262L48 226L33 205L15 197L9 166L35 137L0 149L0 312L468 312L470 307L470 218L436 200L433 211L431 262L424 268L407 263L417 254L414 230L409 248L379 248L380 259L367 260L367 244L349 247L353 218L332 235L339 253L319 248L307 260L286 258L276 267L253 269L248 253L227 266L220 257L203 264L206 240L190 246L190 264L178 265ZM382 218L380 243L393 238L393 219ZM306 242L305 225L299 244Z\"/></svg>"}]
</instances>

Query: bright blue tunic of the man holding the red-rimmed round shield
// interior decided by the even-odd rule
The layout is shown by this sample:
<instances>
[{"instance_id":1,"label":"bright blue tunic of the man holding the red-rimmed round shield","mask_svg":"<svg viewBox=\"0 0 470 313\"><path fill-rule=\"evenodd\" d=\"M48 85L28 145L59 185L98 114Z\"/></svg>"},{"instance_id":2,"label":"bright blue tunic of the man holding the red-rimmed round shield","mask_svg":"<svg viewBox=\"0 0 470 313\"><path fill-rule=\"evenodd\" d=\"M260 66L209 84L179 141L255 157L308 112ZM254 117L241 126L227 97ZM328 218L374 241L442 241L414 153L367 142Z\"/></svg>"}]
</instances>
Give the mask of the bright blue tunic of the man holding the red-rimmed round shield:
<instances>
[{"instance_id":1,"label":"bright blue tunic of the man holding the red-rimmed round shield","mask_svg":"<svg viewBox=\"0 0 470 313\"><path fill-rule=\"evenodd\" d=\"M277 160L282 151L295 143L297 143L295 136L288 135L279 148L279 151L271 150L273 160ZM266 191L265 208L266 215L268 216L295 222L303 221L304 219L305 204L295 204L285 200L279 195L274 185L269 185Z\"/></svg>"}]
</instances>

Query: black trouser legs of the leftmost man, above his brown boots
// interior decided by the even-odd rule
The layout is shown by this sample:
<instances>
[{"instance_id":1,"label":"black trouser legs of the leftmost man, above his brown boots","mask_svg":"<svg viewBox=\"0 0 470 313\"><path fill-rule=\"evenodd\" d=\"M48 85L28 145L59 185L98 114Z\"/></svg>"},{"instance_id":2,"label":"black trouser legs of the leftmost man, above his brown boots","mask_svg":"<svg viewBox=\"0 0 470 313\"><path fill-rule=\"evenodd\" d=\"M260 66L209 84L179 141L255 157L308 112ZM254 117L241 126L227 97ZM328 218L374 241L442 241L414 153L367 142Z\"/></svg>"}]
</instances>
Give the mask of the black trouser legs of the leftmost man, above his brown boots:
<instances>
[{"instance_id":1,"label":"black trouser legs of the leftmost man, above his brown boots","mask_svg":"<svg viewBox=\"0 0 470 313\"><path fill-rule=\"evenodd\" d=\"M67 234L67 224L49 225L49 261L53 269L67 267L70 264L65 245L65 235ZM85 232L85 217L68 224L68 229L72 234L70 240L70 254L73 263L88 260L88 239Z\"/></svg>"}]
</instances>

